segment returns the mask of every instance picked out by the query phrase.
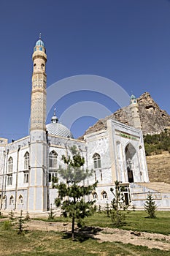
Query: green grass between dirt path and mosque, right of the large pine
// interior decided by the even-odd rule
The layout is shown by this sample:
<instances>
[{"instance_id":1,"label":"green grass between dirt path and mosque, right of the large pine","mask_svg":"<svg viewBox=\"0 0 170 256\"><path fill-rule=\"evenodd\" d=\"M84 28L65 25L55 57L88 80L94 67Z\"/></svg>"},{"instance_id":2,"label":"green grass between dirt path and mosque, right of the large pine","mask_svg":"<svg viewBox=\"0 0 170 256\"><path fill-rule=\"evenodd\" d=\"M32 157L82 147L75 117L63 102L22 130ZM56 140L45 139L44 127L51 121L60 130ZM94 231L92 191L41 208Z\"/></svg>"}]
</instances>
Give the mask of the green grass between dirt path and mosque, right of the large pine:
<instances>
[{"instance_id":1,"label":"green grass between dirt path and mosque, right of the large pine","mask_svg":"<svg viewBox=\"0 0 170 256\"><path fill-rule=\"evenodd\" d=\"M126 214L124 230L137 230L149 233L170 234L170 211L156 211L156 218L147 218L145 211L128 211ZM98 227L112 227L111 218L107 213L101 212L85 219L85 225Z\"/></svg>"}]
</instances>

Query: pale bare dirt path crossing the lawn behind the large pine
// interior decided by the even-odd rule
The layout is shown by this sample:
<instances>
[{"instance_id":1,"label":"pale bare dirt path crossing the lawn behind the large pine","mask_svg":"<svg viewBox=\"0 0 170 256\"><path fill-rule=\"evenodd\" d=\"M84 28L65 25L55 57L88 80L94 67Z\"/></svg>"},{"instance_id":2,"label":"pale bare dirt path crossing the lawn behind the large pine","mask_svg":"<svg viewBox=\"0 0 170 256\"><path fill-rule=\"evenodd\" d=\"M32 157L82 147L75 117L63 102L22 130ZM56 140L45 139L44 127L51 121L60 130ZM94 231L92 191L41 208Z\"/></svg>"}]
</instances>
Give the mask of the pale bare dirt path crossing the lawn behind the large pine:
<instances>
[{"instance_id":1,"label":"pale bare dirt path crossing the lawn behind the large pine","mask_svg":"<svg viewBox=\"0 0 170 256\"><path fill-rule=\"evenodd\" d=\"M69 232L71 231L71 223L31 220L31 222L28 222L26 229ZM104 241L120 241L123 242L123 244L147 246L150 249L156 248L161 250L170 250L170 236L157 233L133 232L131 230L128 231L105 227L95 234L90 233L90 235L92 235L93 238L98 239L98 242L100 243Z\"/></svg>"}]
</instances>

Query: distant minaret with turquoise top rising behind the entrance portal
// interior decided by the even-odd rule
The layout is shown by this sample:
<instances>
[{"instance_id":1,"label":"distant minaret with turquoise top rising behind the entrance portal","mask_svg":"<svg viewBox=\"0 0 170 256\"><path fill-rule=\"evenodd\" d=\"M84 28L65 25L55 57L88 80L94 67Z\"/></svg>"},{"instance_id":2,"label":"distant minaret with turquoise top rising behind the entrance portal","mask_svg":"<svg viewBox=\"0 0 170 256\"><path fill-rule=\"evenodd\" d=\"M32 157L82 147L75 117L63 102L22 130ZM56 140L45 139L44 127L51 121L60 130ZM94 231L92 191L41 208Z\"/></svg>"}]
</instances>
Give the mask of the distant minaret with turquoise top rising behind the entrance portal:
<instances>
[{"instance_id":1,"label":"distant minaret with turquoise top rising behind the entrance portal","mask_svg":"<svg viewBox=\"0 0 170 256\"><path fill-rule=\"evenodd\" d=\"M131 125L134 128L142 129L140 117L139 117L139 105L134 94L131 95Z\"/></svg>"}]
</instances>

